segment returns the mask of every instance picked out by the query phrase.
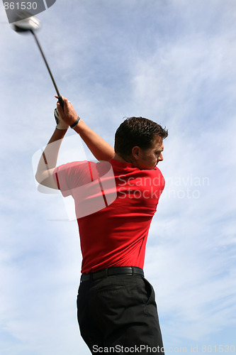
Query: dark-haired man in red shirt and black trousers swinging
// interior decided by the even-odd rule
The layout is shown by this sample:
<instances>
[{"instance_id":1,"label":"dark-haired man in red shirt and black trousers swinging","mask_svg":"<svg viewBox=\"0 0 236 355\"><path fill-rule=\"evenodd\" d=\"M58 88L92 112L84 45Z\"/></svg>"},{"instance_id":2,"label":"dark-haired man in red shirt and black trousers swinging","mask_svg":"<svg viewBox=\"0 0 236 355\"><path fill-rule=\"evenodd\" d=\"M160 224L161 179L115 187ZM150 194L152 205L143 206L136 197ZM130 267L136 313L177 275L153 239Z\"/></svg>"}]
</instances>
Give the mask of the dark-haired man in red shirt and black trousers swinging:
<instances>
[{"instance_id":1,"label":"dark-haired man in red shirt and black trousers swinging","mask_svg":"<svg viewBox=\"0 0 236 355\"><path fill-rule=\"evenodd\" d=\"M58 124L35 177L74 198L83 256L77 297L80 332L92 354L164 354L154 290L142 268L148 230L164 189L157 163L163 160L168 132L142 117L125 119L116 131L114 151L63 99L64 111L57 102ZM69 126L100 162L56 168Z\"/></svg>"}]
</instances>

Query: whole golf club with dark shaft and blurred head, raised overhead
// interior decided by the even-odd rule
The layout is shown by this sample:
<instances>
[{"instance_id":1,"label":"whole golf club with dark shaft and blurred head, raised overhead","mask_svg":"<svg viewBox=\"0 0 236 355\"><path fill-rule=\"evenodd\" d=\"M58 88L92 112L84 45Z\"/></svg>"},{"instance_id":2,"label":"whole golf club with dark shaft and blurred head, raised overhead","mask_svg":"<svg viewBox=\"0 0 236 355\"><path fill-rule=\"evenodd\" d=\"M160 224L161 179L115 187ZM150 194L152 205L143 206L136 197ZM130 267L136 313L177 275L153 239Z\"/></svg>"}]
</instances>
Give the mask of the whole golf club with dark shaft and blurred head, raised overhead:
<instances>
[{"instance_id":1,"label":"whole golf club with dark shaft and blurred head, raised overhead","mask_svg":"<svg viewBox=\"0 0 236 355\"><path fill-rule=\"evenodd\" d=\"M26 18L26 16L28 16L28 17ZM23 19L21 19L21 18L23 18ZM35 35L35 32L34 32L35 30L38 30L38 28L40 28L40 21L38 20L38 18L36 18L35 16L30 16L30 14L26 13L25 11L21 11L21 13L18 14L18 16L17 16L17 19L18 19L18 21L15 21L15 22L12 23L13 24L13 30L16 31L16 32L20 32L20 33L26 33L26 32L32 33L33 37L35 38L35 42L38 45L40 53L41 53L41 55L43 57L43 60L44 60L45 65L47 67L47 70L48 70L48 72L50 74L50 77L52 79L52 83L53 83L53 85L55 87L55 90L57 92L57 97L58 97L58 101L60 103L60 106L63 109L63 107L64 107L63 99L62 99L62 97L60 95L60 92L59 92L59 90L57 88L57 84L56 84L56 82L54 80L54 77L52 76L52 72L51 72L50 67L49 67L49 65L47 63L47 60L46 60L45 55L43 53L43 50L42 50L42 48L40 46L38 38L37 38L37 36Z\"/></svg>"}]
</instances>

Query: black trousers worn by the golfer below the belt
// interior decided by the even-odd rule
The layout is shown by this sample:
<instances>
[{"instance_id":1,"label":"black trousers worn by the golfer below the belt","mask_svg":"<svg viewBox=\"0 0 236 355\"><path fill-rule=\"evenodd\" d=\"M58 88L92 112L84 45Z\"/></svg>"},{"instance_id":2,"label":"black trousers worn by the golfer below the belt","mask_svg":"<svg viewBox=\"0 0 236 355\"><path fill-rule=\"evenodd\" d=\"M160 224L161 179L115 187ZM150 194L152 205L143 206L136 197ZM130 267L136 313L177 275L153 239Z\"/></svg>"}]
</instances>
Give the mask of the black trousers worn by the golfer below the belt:
<instances>
[{"instance_id":1,"label":"black trousers worn by the golfer below the belt","mask_svg":"<svg viewBox=\"0 0 236 355\"><path fill-rule=\"evenodd\" d=\"M79 285L79 329L92 354L164 354L152 285L116 275Z\"/></svg>"}]
</instances>

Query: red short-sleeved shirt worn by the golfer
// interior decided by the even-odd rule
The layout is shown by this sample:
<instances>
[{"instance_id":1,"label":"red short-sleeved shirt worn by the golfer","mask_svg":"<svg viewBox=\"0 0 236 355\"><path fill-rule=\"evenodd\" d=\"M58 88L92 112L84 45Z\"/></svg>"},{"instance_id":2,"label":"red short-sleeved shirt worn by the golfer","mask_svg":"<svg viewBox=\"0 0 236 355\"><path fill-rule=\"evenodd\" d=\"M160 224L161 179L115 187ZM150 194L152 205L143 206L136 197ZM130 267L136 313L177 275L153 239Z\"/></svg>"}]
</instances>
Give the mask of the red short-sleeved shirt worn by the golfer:
<instances>
[{"instance_id":1,"label":"red short-sleeved shirt worn by the golfer","mask_svg":"<svg viewBox=\"0 0 236 355\"><path fill-rule=\"evenodd\" d=\"M64 164L53 176L62 195L74 198L82 273L112 266L143 268L147 234L164 189L160 170L112 159Z\"/></svg>"}]
</instances>

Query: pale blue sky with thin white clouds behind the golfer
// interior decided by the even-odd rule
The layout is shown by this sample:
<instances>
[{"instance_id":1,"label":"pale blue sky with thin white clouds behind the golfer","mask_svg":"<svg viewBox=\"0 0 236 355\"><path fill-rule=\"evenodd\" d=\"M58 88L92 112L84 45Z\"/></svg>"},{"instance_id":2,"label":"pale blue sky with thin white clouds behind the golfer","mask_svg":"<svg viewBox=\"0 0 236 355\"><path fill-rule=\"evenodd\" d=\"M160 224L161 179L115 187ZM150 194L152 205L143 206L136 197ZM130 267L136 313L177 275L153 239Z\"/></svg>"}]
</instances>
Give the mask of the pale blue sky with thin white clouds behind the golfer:
<instances>
[{"instance_id":1,"label":"pale blue sky with thin white clouds behind the golfer","mask_svg":"<svg viewBox=\"0 0 236 355\"><path fill-rule=\"evenodd\" d=\"M123 116L169 129L145 261L166 354L236 347L235 1L57 0L38 18L57 86L92 129L111 144ZM0 351L88 355L77 224L33 177L32 157L55 127L55 91L33 38L11 30L3 6L0 26ZM92 158L67 136L62 160Z\"/></svg>"}]
</instances>

